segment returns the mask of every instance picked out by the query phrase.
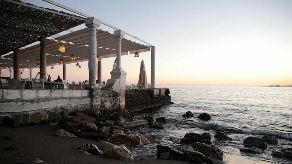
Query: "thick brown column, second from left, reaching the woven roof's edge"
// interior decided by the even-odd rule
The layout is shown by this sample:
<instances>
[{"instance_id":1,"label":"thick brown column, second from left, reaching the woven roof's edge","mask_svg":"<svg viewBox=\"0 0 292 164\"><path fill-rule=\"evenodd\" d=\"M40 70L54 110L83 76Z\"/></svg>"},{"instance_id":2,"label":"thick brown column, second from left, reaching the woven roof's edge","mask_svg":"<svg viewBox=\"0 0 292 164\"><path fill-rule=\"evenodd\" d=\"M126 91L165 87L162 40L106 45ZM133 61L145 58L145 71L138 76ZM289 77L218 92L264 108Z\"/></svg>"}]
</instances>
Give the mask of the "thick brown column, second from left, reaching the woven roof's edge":
<instances>
[{"instance_id":1,"label":"thick brown column, second from left, reaching the woven roof's edge","mask_svg":"<svg viewBox=\"0 0 292 164\"><path fill-rule=\"evenodd\" d=\"M45 78L46 80L46 69L47 69L47 39L41 38L39 40L41 42L41 52L40 52L40 61L41 65L39 68L39 78Z\"/></svg>"}]
</instances>

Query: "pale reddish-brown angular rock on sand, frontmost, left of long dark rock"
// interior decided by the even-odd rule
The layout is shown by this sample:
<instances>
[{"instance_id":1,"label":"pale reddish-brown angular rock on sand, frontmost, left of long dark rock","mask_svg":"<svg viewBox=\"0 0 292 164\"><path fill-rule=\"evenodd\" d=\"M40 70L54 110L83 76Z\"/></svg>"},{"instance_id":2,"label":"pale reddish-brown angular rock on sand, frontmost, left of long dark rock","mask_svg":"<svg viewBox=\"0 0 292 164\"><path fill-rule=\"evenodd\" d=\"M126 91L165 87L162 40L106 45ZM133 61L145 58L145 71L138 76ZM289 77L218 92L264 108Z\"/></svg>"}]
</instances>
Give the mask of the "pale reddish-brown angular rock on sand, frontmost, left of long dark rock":
<instances>
[{"instance_id":1,"label":"pale reddish-brown angular rock on sand, frontmost, left of long dark rock","mask_svg":"<svg viewBox=\"0 0 292 164\"><path fill-rule=\"evenodd\" d=\"M121 145L119 148L107 151L105 156L123 161L134 161L135 159L131 152L124 145Z\"/></svg>"}]
</instances>

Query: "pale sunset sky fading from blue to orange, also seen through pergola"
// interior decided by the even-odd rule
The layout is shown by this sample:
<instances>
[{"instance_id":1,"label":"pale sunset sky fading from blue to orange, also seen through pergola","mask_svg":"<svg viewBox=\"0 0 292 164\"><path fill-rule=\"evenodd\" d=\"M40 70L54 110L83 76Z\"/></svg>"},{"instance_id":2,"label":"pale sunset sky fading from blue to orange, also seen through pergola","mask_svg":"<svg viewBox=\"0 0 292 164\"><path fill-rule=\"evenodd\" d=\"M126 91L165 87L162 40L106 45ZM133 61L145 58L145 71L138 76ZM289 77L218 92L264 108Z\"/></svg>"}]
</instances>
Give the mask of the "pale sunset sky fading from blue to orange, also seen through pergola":
<instances>
[{"instance_id":1,"label":"pale sunset sky fading from blue to orange, also seen through pergola","mask_svg":"<svg viewBox=\"0 0 292 164\"><path fill-rule=\"evenodd\" d=\"M25 1L64 10L39 0ZM291 0L55 1L155 45L156 85L292 85ZM85 25L74 30L82 28ZM104 25L100 28L113 31ZM110 78L114 59L102 59L102 81ZM121 57L126 84L138 83L142 60L150 83L150 52L143 52L140 58ZM67 65L69 82L89 79L88 62L79 64L82 69ZM62 65L50 68L52 79L62 78ZM37 72L33 69L33 75ZM25 77L29 77L27 69Z\"/></svg>"}]
</instances>

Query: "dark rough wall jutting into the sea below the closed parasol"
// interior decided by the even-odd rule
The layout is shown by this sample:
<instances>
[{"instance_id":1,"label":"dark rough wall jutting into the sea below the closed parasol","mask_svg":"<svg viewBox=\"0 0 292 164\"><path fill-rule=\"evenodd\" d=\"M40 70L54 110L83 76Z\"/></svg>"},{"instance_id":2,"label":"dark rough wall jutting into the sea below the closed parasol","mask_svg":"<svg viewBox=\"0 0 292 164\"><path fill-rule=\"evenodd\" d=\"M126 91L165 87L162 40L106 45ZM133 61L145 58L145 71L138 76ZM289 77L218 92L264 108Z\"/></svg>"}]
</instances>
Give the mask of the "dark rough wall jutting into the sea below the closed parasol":
<instances>
[{"instance_id":1,"label":"dark rough wall jutting into the sea below the closed parasol","mask_svg":"<svg viewBox=\"0 0 292 164\"><path fill-rule=\"evenodd\" d=\"M170 103L169 89L131 89L126 90L126 107L129 112Z\"/></svg>"}]
</instances>

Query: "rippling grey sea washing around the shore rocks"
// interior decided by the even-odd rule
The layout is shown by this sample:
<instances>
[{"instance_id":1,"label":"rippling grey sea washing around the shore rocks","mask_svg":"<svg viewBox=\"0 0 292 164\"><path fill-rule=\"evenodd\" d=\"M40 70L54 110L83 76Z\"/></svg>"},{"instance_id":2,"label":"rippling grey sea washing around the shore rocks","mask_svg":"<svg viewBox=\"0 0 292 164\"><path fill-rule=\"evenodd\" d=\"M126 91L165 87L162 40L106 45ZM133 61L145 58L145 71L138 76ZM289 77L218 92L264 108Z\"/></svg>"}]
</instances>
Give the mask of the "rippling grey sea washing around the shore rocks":
<instances>
[{"instance_id":1,"label":"rippling grey sea washing around the shore rocks","mask_svg":"<svg viewBox=\"0 0 292 164\"><path fill-rule=\"evenodd\" d=\"M267 163L292 163L288 158L272 156L273 150L292 148L292 87L200 87L200 86L159 86L169 88L171 102L134 113L135 119L144 116L166 117L168 122L163 129L144 126L131 130L144 130L156 135L151 144L130 147L136 159L156 158L156 145L171 147L181 146L191 149L192 144L181 144L186 133L208 132L212 144L216 144L224 154L245 156L254 161ZM187 111L194 117L182 117ZM203 121L197 118L201 113L208 113L212 119ZM214 138L217 130L227 132L234 141ZM241 153L243 140L248 136L274 136L279 144L268 144L267 149L256 149L261 154ZM224 161L224 157L223 157Z\"/></svg>"}]
</instances>

